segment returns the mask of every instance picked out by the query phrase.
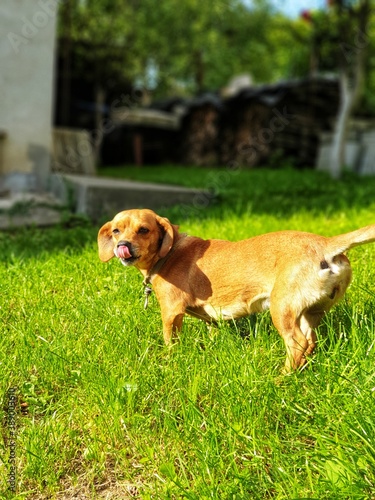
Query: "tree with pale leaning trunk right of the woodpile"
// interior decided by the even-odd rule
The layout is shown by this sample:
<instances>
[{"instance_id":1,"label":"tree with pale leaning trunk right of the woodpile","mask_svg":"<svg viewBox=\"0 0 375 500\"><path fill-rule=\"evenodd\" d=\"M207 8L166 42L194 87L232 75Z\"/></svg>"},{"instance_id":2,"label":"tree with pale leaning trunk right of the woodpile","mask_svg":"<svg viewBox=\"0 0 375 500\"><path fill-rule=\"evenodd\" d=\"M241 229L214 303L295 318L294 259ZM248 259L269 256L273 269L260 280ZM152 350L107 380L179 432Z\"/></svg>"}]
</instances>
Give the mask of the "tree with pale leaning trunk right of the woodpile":
<instances>
[{"instance_id":1,"label":"tree with pale leaning trunk right of the woodpile","mask_svg":"<svg viewBox=\"0 0 375 500\"><path fill-rule=\"evenodd\" d=\"M371 0L329 0L329 9L303 16L310 23L310 46L315 69L335 71L340 104L334 127L330 173L339 179L345 161L349 119L363 91L369 45Z\"/></svg>"}]
</instances>

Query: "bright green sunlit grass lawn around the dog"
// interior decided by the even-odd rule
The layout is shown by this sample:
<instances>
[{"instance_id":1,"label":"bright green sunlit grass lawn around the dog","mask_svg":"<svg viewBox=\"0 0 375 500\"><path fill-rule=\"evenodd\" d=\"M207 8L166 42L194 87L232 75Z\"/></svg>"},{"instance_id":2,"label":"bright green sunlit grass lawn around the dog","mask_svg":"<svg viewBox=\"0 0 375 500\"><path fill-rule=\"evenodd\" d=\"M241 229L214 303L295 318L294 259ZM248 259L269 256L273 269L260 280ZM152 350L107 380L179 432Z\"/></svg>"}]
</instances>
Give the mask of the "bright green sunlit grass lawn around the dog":
<instances>
[{"instance_id":1,"label":"bright green sunlit grass lawn around the dog","mask_svg":"<svg viewBox=\"0 0 375 500\"><path fill-rule=\"evenodd\" d=\"M159 211L203 238L375 223L375 178L102 174L214 191L210 206ZM0 498L375 498L374 244L350 252L353 283L308 368L283 377L268 313L211 333L187 319L167 350L155 297L143 310L141 275L99 261L98 229L0 233Z\"/></svg>"}]
</instances>

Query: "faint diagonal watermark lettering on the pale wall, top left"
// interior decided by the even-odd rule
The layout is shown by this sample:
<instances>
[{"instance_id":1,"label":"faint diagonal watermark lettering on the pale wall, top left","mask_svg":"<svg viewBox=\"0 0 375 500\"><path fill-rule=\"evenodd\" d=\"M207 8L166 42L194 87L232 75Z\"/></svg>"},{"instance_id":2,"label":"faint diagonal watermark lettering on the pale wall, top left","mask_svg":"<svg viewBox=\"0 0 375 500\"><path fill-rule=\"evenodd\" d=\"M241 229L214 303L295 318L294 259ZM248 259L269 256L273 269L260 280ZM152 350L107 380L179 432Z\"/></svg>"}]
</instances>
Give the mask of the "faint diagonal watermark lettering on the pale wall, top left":
<instances>
[{"instance_id":1,"label":"faint diagonal watermark lettering on the pale wall, top left","mask_svg":"<svg viewBox=\"0 0 375 500\"><path fill-rule=\"evenodd\" d=\"M18 33L9 32L7 38L13 49L18 54L22 47L28 45L30 41L39 33L39 31L47 26L51 19L57 16L59 6L65 0L38 0L37 5L40 7L35 10L30 17L22 16L20 18L21 27Z\"/></svg>"}]
</instances>

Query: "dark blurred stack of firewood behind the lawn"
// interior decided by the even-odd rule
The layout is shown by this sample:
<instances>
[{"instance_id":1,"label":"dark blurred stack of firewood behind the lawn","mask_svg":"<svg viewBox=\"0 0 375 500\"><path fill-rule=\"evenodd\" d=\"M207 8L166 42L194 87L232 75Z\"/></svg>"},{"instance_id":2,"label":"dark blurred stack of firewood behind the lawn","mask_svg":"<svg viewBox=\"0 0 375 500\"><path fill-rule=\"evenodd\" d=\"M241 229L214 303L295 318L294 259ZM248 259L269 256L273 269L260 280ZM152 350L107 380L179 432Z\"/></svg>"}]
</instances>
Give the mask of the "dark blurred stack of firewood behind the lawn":
<instances>
[{"instance_id":1,"label":"dark blurred stack of firewood behind the lawn","mask_svg":"<svg viewBox=\"0 0 375 500\"><path fill-rule=\"evenodd\" d=\"M181 161L313 166L319 136L332 130L338 104L337 80L326 78L250 87L220 105L192 101L181 123Z\"/></svg>"}]
</instances>

